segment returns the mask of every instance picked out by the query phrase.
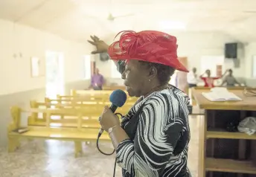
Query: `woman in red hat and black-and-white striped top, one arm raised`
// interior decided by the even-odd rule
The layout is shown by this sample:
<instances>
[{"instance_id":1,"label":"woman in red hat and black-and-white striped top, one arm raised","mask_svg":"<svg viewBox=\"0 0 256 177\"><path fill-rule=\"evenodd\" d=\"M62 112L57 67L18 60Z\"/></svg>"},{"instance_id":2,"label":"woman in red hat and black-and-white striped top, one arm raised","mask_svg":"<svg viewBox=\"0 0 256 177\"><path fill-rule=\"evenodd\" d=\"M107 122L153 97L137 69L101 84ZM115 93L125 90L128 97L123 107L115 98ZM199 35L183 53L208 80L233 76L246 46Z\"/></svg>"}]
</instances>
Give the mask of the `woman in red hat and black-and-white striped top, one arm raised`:
<instances>
[{"instance_id":1,"label":"woman in red hat and black-and-white striped top, one arm raised","mask_svg":"<svg viewBox=\"0 0 256 177\"><path fill-rule=\"evenodd\" d=\"M92 54L103 52L104 42L92 39ZM109 46L117 65L125 63L119 71L129 96L140 97L121 123L107 106L101 115L123 176L191 176L188 96L168 85L175 69L188 72L176 49L176 37L158 31L125 31Z\"/></svg>"}]
</instances>

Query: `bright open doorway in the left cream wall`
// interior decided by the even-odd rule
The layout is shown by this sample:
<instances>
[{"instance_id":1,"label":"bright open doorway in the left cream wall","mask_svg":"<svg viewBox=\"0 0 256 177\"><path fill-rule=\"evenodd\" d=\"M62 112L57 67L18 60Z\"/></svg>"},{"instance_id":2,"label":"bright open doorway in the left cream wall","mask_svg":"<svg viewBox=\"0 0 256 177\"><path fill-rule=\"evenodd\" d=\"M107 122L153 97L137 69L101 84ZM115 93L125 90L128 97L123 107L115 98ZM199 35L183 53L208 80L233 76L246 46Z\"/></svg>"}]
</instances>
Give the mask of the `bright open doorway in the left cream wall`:
<instances>
[{"instance_id":1,"label":"bright open doorway in the left cream wall","mask_svg":"<svg viewBox=\"0 0 256 177\"><path fill-rule=\"evenodd\" d=\"M64 56L61 52L46 51L45 95L55 98L64 94Z\"/></svg>"}]
</instances>

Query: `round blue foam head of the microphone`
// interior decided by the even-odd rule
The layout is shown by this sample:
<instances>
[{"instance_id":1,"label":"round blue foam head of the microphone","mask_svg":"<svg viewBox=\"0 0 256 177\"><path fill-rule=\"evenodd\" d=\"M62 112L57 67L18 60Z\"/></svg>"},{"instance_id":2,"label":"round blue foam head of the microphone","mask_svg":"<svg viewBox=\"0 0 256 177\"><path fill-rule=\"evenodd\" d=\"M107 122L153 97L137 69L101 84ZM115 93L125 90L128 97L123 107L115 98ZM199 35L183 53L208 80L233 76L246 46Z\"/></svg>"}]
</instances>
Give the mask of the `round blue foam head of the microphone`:
<instances>
[{"instance_id":1,"label":"round blue foam head of the microphone","mask_svg":"<svg viewBox=\"0 0 256 177\"><path fill-rule=\"evenodd\" d=\"M115 106L122 107L127 101L127 94L120 89L115 90L110 94L109 101Z\"/></svg>"}]
</instances>

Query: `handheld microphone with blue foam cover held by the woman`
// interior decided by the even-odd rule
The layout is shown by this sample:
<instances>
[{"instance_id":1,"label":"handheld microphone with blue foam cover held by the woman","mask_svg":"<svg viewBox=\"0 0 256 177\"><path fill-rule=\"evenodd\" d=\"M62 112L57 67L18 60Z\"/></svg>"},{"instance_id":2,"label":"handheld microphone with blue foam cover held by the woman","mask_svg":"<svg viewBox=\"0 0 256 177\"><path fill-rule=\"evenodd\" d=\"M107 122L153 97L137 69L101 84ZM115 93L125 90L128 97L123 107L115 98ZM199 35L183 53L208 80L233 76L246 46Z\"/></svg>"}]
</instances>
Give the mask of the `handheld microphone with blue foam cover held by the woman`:
<instances>
[{"instance_id":1,"label":"handheld microphone with blue foam cover held by the woman","mask_svg":"<svg viewBox=\"0 0 256 177\"><path fill-rule=\"evenodd\" d=\"M127 101L127 94L121 89L115 90L110 94L109 101L112 103L109 109L114 113L118 107L124 106L124 103ZM103 129L100 129L98 136L100 136L103 131Z\"/></svg>"}]
</instances>

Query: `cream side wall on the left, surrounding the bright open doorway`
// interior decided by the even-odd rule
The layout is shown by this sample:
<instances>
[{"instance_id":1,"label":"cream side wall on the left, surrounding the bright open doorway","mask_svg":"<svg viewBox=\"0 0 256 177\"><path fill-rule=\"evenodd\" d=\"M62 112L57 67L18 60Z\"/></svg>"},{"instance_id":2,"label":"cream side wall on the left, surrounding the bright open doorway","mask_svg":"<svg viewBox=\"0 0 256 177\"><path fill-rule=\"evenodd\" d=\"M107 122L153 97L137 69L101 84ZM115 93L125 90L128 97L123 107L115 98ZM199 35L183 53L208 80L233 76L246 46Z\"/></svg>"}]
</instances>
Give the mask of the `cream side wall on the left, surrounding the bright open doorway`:
<instances>
[{"instance_id":1,"label":"cream side wall on the left, surrounding the bright open doorway","mask_svg":"<svg viewBox=\"0 0 256 177\"><path fill-rule=\"evenodd\" d=\"M87 49L87 50L86 50ZM92 47L67 41L51 33L14 25L0 19L0 94L45 87L45 77L31 78L31 57L45 59L45 51L59 51L65 57L65 83L82 80L83 59ZM22 57L13 55L22 54Z\"/></svg>"}]
</instances>

